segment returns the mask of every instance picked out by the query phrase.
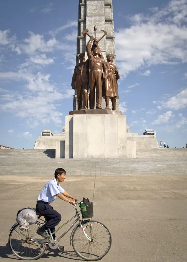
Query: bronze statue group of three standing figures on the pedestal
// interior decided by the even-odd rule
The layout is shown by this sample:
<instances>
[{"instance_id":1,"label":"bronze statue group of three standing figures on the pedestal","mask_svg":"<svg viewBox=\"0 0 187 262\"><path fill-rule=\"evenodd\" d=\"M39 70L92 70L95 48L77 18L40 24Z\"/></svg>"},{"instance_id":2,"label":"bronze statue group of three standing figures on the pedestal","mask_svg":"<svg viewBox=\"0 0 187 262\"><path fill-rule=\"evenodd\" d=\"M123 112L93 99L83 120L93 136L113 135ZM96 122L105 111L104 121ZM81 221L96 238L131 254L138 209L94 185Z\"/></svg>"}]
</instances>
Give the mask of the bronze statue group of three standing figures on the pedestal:
<instances>
[{"instance_id":1,"label":"bronze statue group of three standing figures on the pedestal","mask_svg":"<svg viewBox=\"0 0 187 262\"><path fill-rule=\"evenodd\" d=\"M94 40L93 45L92 41ZM90 109L95 107L101 109L102 97L105 98L106 109L109 109L109 98L112 102L112 110L116 110L116 99L118 96L118 83L120 78L116 65L113 64L113 56L107 55L107 62L101 53L98 41L91 37L86 45L88 59L85 54L80 54L80 63L75 66L72 77L72 89L76 89L78 110L88 109L88 91Z\"/></svg>"}]
</instances>

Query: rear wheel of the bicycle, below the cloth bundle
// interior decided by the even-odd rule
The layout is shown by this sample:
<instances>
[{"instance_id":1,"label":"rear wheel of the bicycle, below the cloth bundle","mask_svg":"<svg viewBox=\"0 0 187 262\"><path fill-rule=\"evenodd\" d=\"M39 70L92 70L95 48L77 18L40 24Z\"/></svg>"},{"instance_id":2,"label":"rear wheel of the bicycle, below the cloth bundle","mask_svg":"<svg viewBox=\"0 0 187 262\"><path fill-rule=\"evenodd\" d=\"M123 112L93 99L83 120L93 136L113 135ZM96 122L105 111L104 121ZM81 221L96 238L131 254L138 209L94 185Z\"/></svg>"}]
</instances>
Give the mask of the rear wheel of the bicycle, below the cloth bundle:
<instances>
[{"instance_id":1,"label":"rear wheel of the bicycle, below the cloth bundle","mask_svg":"<svg viewBox=\"0 0 187 262\"><path fill-rule=\"evenodd\" d=\"M39 227L40 225L41 224L38 221L36 221L34 224L30 225L28 229L24 229L23 231L21 231L19 229L19 223L16 223L15 226L11 229L9 238L8 238L8 244L9 244L10 249L12 250L12 253L17 258L21 260L35 260L35 259L40 258L43 255L43 253L46 251L46 248L47 248L46 243L29 244L21 240L21 238L25 239L26 237L29 237L29 235L32 236L32 234L37 230L37 227ZM32 236L32 238L35 238L35 236L37 236L37 238L42 238L37 233L35 233ZM21 251L17 250L19 247ZM35 255L34 247L36 248L36 250L38 251L37 253L39 254L36 253ZM41 252L39 251L39 248L42 248ZM26 256L24 256L25 253L26 253ZM27 253L29 255L31 254L31 256L27 257Z\"/></svg>"}]
</instances>

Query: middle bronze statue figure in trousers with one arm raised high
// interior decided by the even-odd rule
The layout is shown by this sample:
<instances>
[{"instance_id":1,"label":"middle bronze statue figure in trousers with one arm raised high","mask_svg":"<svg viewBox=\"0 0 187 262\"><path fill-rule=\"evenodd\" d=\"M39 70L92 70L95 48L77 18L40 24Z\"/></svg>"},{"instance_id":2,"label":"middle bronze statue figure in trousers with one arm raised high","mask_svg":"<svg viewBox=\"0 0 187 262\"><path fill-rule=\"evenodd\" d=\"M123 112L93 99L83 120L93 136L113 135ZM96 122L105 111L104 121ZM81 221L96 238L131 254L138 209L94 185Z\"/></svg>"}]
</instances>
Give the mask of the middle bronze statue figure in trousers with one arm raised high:
<instances>
[{"instance_id":1,"label":"middle bronze statue figure in trousers with one arm raised high","mask_svg":"<svg viewBox=\"0 0 187 262\"><path fill-rule=\"evenodd\" d=\"M101 109L102 102L102 84L103 84L103 71L105 72L105 79L108 77L108 70L105 63L105 59L98 46L98 42L94 42L91 51L91 43L94 37L91 37L86 45L86 52L89 59L90 65L90 108L95 107L95 89L96 89L96 108Z\"/></svg>"}]
</instances>

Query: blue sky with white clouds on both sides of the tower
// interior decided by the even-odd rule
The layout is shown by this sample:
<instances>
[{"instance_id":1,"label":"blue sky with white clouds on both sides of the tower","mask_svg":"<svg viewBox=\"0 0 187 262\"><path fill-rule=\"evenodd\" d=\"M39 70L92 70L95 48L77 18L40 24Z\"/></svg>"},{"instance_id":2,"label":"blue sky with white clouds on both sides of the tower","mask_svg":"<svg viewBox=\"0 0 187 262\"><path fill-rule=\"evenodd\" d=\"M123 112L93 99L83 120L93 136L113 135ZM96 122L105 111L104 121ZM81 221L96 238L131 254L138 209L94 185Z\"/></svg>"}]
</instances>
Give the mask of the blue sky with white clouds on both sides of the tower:
<instances>
[{"instance_id":1,"label":"blue sky with white clouds on both sides of the tower","mask_svg":"<svg viewBox=\"0 0 187 262\"><path fill-rule=\"evenodd\" d=\"M0 144L33 148L73 109L78 0L0 3ZM130 132L187 143L187 0L115 0L120 110Z\"/></svg>"}]
</instances>

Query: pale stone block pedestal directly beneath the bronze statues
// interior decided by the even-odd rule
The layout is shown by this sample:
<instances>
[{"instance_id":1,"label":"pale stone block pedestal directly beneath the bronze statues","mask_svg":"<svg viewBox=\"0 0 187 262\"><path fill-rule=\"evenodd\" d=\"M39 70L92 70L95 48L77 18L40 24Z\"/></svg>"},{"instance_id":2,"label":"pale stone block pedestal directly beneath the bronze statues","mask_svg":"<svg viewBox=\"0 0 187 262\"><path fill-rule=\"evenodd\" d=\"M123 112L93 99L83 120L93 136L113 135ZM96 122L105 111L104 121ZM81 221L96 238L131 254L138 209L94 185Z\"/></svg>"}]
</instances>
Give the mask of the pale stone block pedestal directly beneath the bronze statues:
<instances>
[{"instance_id":1,"label":"pale stone block pedestal directly beneath the bronze statues","mask_svg":"<svg viewBox=\"0 0 187 262\"><path fill-rule=\"evenodd\" d=\"M74 114L65 117L65 158L127 157L126 116Z\"/></svg>"}]
</instances>

